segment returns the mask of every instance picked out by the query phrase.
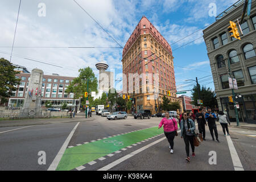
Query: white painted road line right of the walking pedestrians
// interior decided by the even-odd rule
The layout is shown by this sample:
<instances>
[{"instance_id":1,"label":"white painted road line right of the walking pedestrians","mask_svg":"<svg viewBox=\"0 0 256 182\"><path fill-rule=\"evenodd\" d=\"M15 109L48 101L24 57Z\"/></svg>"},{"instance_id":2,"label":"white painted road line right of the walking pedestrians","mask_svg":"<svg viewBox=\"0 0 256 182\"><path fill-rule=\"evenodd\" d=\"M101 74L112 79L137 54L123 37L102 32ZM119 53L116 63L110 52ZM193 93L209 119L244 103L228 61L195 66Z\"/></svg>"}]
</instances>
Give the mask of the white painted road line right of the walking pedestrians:
<instances>
[{"instance_id":1,"label":"white painted road line right of the walking pedestrians","mask_svg":"<svg viewBox=\"0 0 256 182\"><path fill-rule=\"evenodd\" d=\"M235 171L244 171L242 163L238 157L236 148L234 147L234 144L232 142L232 139L230 136L226 136L226 140L228 141L229 151L232 158L233 166Z\"/></svg>"}]
</instances>

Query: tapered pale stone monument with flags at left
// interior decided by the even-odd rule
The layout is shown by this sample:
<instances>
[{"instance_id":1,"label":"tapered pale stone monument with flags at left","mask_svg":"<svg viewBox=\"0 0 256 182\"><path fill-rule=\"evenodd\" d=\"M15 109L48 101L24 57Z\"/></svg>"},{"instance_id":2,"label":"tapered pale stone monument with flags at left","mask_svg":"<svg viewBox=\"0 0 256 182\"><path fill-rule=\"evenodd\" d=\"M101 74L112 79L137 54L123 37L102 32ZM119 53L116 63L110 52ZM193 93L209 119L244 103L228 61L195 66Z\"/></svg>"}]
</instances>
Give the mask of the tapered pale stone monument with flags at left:
<instances>
[{"instance_id":1,"label":"tapered pale stone monument with flags at left","mask_svg":"<svg viewBox=\"0 0 256 182\"><path fill-rule=\"evenodd\" d=\"M27 92L25 95L20 117L41 117L41 98L42 98L43 71L41 69L33 69L28 82Z\"/></svg>"}]
</instances>

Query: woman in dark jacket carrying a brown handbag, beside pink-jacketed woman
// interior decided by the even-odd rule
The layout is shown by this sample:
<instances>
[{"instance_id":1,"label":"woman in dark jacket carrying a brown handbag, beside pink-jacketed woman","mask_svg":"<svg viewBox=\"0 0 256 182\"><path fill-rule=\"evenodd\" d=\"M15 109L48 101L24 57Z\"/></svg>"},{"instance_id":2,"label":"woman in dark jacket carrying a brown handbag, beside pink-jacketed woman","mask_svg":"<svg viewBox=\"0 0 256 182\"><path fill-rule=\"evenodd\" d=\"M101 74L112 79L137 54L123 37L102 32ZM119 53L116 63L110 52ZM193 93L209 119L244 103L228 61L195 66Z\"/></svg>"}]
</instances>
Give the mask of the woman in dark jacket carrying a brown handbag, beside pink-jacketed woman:
<instances>
[{"instance_id":1,"label":"woman in dark jacket carrying a brown handbag, beside pink-jacketed woman","mask_svg":"<svg viewBox=\"0 0 256 182\"><path fill-rule=\"evenodd\" d=\"M181 134L181 138L184 139L185 142L185 150L187 153L187 158L185 158L185 160L187 160L187 162L190 162L190 158L189 158L189 143L191 145L191 149L192 149L192 156L196 156L195 155L195 146L194 146L194 141L193 138L195 136L195 123L193 122L192 119L188 118L188 114L187 113L183 113L182 114L182 119L180 121L180 134Z\"/></svg>"}]
</instances>

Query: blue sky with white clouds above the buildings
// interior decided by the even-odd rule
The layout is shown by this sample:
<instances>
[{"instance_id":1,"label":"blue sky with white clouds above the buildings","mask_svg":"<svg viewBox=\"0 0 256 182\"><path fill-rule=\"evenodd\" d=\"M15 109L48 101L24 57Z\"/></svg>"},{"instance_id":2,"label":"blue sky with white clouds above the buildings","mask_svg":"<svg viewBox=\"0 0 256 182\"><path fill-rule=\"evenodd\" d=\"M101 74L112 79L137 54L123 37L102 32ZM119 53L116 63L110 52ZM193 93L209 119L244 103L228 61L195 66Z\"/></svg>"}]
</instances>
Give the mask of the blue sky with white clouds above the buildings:
<instances>
[{"instance_id":1,"label":"blue sky with white clouds above the buildings","mask_svg":"<svg viewBox=\"0 0 256 182\"><path fill-rule=\"evenodd\" d=\"M125 46L144 15L171 45L177 90L191 90L196 82L185 80L196 77L201 86L214 90L200 29L215 22L215 16L236 1L22 0L11 63L30 71L42 69L45 75L58 73L71 77L77 77L80 68L90 67L98 77L95 64L104 60L109 64L108 71L115 73L115 80L120 80L122 48L118 47ZM0 57L7 60L10 60L19 2L0 1ZM115 88L121 90L122 82L116 81ZM191 92L185 95L191 96Z\"/></svg>"}]
</instances>

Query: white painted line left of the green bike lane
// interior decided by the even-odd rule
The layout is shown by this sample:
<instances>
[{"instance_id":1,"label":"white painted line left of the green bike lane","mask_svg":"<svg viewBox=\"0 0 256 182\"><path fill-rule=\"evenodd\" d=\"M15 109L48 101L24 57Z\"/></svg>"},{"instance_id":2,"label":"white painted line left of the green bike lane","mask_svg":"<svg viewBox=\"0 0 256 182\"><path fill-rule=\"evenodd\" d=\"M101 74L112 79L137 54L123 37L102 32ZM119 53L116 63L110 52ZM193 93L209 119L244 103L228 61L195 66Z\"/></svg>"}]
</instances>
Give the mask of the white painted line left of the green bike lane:
<instances>
[{"instance_id":1,"label":"white painted line left of the green bike lane","mask_svg":"<svg viewBox=\"0 0 256 182\"><path fill-rule=\"evenodd\" d=\"M55 159L53 160L53 162L51 163L51 165L49 166L49 168L47 169L47 171L55 171L57 166L60 163L60 159L62 158L69 141L71 140L73 134L76 131L77 126L79 125L80 122L78 122L76 124L76 126L73 128L73 130L71 131L71 133L68 135L68 138L65 140L65 142L63 143L63 146L60 148L60 151L58 152L58 154L56 155Z\"/></svg>"}]
</instances>

